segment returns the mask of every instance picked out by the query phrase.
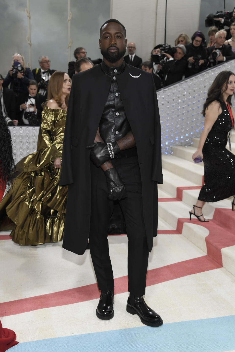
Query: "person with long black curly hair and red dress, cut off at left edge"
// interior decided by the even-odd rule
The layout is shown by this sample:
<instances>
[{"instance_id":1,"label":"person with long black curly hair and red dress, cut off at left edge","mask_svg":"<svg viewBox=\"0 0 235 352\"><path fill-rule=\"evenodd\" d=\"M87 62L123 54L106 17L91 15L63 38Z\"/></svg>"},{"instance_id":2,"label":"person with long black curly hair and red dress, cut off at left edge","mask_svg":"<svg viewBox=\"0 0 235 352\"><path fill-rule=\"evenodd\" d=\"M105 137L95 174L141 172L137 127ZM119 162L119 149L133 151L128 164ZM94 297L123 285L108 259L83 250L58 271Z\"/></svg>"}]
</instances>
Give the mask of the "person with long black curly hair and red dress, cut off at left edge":
<instances>
[{"instance_id":1,"label":"person with long black curly hair and red dress, cut off at left edge","mask_svg":"<svg viewBox=\"0 0 235 352\"><path fill-rule=\"evenodd\" d=\"M4 195L6 186L10 187L12 172L14 171L14 159L12 156L11 133L8 130L5 118L0 110L0 201ZM14 331L3 328L0 320L0 351L5 352L8 348L18 344Z\"/></svg>"}]
</instances>

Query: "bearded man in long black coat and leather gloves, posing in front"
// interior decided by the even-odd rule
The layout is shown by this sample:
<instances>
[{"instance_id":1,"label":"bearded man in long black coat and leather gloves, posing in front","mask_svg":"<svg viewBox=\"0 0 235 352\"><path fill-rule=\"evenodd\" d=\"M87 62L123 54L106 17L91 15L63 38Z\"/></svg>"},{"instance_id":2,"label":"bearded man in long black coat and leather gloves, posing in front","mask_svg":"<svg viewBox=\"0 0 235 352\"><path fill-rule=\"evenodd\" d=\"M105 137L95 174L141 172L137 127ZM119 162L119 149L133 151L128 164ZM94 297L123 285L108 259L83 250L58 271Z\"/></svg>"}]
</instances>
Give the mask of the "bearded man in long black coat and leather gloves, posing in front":
<instances>
[{"instance_id":1,"label":"bearded man in long black coat and leather gloves, posing in front","mask_svg":"<svg viewBox=\"0 0 235 352\"><path fill-rule=\"evenodd\" d=\"M114 280L107 232L127 231L127 312L160 326L161 317L142 297L157 235L157 184L163 183L158 102L152 75L123 61L125 36L119 21L104 23L102 63L73 77L60 181L68 185L63 248L83 254L89 237L101 290L96 315L108 320L114 316Z\"/></svg>"}]
</instances>

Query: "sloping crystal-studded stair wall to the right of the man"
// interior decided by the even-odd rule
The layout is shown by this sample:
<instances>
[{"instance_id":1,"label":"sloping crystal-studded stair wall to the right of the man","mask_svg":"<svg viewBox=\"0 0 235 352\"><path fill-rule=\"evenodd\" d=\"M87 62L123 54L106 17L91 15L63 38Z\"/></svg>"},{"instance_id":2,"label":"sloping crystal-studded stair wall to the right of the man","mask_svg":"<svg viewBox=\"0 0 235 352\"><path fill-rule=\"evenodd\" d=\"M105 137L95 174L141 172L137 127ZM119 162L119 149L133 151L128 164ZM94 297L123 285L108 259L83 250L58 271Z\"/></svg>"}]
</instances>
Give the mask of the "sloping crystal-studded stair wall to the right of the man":
<instances>
[{"instance_id":1,"label":"sloping crystal-studded stair wall to the right of the man","mask_svg":"<svg viewBox=\"0 0 235 352\"><path fill-rule=\"evenodd\" d=\"M201 111L208 89L223 70L234 72L235 60L157 91L163 154L172 154L176 145L190 146L193 138L200 137L204 125Z\"/></svg>"}]
</instances>

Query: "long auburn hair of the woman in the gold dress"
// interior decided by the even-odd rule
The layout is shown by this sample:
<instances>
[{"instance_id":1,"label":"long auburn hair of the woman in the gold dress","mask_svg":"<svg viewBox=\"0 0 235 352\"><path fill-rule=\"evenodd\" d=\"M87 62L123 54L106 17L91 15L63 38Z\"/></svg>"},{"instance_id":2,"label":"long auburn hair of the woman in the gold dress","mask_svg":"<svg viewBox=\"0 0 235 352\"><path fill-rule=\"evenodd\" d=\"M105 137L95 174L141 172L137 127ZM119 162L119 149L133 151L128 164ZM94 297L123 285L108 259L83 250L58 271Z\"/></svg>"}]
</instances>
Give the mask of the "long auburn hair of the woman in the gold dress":
<instances>
[{"instance_id":1,"label":"long auburn hair of the woman in the gold dress","mask_svg":"<svg viewBox=\"0 0 235 352\"><path fill-rule=\"evenodd\" d=\"M67 72L56 71L51 75L48 83L47 100L43 104L44 106L46 105L47 101L54 99L57 102L58 106L61 108L62 106L61 95L62 95L65 73ZM69 94L65 98L66 106L68 106L68 101L69 101Z\"/></svg>"}]
</instances>

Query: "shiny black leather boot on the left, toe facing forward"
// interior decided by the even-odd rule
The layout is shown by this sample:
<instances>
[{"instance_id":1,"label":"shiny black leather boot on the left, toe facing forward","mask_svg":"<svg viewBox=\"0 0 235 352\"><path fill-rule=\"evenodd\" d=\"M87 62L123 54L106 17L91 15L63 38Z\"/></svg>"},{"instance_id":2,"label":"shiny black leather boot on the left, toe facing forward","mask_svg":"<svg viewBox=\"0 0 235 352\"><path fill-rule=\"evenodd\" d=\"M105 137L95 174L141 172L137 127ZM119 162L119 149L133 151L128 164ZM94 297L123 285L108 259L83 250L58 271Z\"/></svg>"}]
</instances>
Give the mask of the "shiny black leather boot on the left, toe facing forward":
<instances>
[{"instance_id":1,"label":"shiny black leather boot on the left, toe facing forward","mask_svg":"<svg viewBox=\"0 0 235 352\"><path fill-rule=\"evenodd\" d=\"M114 293L113 291L101 291L100 301L96 309L96 316L99 319L109 320L114 316L113 310Z\"/></svg>"}]
</instances>

